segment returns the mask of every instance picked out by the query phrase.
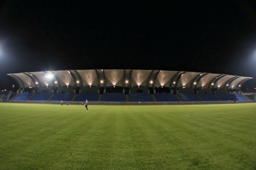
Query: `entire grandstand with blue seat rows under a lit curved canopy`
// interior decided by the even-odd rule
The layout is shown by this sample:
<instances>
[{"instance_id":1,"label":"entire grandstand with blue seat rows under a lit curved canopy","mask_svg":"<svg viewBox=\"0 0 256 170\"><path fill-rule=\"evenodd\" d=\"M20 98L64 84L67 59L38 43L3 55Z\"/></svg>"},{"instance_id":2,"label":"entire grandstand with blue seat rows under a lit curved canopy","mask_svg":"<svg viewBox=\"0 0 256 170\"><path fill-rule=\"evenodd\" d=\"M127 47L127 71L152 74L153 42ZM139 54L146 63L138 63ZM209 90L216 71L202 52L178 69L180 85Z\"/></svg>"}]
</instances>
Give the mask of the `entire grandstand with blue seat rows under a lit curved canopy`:
<instances>
[{"instance_id":1,"label":"entire grandstand with blue seat rows under a lit curved canopy","mask_svg":"<svg viewBox=\"0 0 256 170\"><path fill-rule=\"evenodd\" d=\"M11 101L225 102L249 101L241 86L250 77L205 72L91 69L8 74L18 85ZM8 95L0 95L7 100Z\"/></svg>"}]
</instances>

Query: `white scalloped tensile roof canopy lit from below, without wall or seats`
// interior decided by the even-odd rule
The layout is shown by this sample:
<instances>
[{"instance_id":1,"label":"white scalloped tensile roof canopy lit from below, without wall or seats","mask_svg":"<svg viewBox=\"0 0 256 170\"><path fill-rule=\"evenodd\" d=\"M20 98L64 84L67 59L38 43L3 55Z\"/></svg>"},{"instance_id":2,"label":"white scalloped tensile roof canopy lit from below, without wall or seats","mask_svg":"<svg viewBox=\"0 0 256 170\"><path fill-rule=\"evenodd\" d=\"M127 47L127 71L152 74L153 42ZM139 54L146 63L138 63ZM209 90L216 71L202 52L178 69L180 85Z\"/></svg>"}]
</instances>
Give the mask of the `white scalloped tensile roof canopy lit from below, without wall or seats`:
<instances>
[{"instance_id":1,"label":"white scalloped tensile roof canopy lit from below, without wall or seats","mask_svg":"<svg viewBox=\"0 0 256 170\"><path fill-rule=\"evenodd\" d=\"M205 72L90 69L23 72L7 74L14 78L20 89L28 87L187 87L240 89L250 77Z\"/></svg>"}]
</instances>

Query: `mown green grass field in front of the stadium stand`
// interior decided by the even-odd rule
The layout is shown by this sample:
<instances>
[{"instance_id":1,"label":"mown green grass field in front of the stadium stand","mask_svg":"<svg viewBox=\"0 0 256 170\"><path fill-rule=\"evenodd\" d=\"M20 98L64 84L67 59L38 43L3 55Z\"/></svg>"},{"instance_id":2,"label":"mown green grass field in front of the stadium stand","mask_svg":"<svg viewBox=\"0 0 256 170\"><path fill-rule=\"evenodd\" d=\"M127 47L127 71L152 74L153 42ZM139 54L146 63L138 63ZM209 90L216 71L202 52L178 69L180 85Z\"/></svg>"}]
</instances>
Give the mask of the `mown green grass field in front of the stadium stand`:
<instances>
[{"instance_id":1,"label":"mown green grass field in front of the stadium stand","mask_svg":"<svg viewBox=\"0 0 256 170\"><path fill-rule=\"evenodd\" d=\"M0 103L0 169L256 168L256 103Z\"/></svg>"}]
</instances>

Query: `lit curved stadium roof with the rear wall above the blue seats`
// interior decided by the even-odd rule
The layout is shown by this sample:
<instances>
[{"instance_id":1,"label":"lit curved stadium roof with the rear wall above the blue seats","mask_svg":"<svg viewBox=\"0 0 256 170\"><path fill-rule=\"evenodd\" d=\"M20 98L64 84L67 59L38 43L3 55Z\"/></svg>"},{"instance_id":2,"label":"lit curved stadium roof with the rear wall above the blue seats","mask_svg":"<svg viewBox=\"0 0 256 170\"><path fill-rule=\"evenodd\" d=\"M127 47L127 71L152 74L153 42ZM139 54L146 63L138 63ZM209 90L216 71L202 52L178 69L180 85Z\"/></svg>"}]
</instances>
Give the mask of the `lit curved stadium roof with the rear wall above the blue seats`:
<instances>
[{"instance_id":1,"label":"lit curved stadium roof with the rear wall above the blue seats","mask_svg":"<svg viewBox=\"0 0 256 170\"><path fill-rule=\"evenodd\" d=\"M24 92L241 93L250 77L206 72L88 69L7 74Z\"/></svg>"}]
</instances>

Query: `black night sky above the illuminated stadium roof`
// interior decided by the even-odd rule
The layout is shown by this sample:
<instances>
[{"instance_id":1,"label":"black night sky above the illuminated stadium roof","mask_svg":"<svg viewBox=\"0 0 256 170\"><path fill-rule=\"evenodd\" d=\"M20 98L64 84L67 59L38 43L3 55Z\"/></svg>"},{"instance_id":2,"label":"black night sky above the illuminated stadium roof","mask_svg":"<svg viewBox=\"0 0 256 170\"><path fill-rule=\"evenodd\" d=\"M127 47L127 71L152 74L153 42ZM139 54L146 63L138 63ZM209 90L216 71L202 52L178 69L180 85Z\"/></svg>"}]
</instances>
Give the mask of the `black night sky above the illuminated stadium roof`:
<instances>
[{"instance_id":1,"label":"black night sky above the illuminated stadium roof","mask_svg":"<svg viewBox=\"0 0 256 170\"><path fill-rule=\"evenodd\" d=\"M161 69L253 77L256 2L27 1L0 3L0 89L6 74Z\"/></svg>"}]
</instances>

